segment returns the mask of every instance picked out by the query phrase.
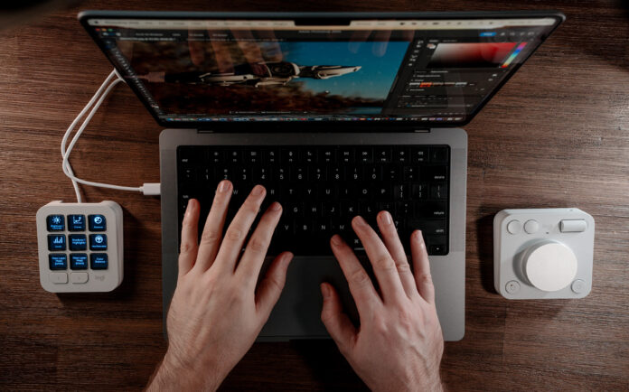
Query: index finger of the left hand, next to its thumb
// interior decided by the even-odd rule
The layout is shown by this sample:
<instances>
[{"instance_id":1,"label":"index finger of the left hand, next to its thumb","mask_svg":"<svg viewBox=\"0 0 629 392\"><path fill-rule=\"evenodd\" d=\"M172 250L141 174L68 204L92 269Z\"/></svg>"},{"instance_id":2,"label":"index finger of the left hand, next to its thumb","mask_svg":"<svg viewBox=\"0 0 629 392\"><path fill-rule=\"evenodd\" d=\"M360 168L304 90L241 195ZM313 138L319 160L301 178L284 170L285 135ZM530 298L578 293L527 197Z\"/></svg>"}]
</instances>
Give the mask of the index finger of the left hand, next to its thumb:
<instances>
[{"instance_id":1,"label":"index finger of the left hand, next to its thumb","mask_svg":"<svg viewBox=\"0 0 629 392\"><path fill-rule=\"evenodd\" d=\"M268 245L271 243L273 232L277 227L279 217L282 216L282 206L276 201L268 207L262 215L258 227L249 238L245 254L242 255L236 274L240 275L249 285L255 287L258 282L260 268L267 256Z\"/></svg>"}]
</instances>

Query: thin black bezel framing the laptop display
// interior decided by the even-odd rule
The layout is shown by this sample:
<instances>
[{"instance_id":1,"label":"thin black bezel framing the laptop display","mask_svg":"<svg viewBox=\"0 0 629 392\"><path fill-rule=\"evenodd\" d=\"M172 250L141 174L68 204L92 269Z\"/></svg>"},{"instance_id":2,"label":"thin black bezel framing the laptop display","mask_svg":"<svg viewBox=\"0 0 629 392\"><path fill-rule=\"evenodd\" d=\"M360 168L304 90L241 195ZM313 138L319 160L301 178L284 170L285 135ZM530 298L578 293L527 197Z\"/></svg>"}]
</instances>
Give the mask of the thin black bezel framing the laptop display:
<instances>
[{"instance_id":1,"label":"thin black bezel framing the laptop display","mask_svg":"<svg viewBox=\"0 0 629 392\"><path fill-rule=\"evenodd\" d=\"M342 130L343 132L381 132L383 126L394 126L396 130L417 130L427 129L433 127L455 127L465 126L480 112L480 110L493 98L498 90L502 89L504 83L511 79L512 75L520 69L521 65L530 58L540 45L546 41L551 33L553 33L559 24L566 20L566 16L559 11L496 11L496 12L439 12L439 13L267 13L267 12L239 12L239 13L211 13L211 12L168 12L168 11L83 11L79 14L79 21L83 28L89 33L89 36L96 42L100 50L105 53L109 62L117 68L117 63L112 61L108 55L108 51L105 45L100 41L99 36L94 32L92 26L89 25L89 19L97 18L117 18L117 19L215 19L215 20L250 20L250 19L276 19L276 20L294 20L297 24L310 24L310 25L331 25L331 24L348 24L350 20L365 20L365 19L387 19L387 20L421 20L421 19L510 19L510 18L553 18L555 23L549 28L549 32L540 36L540 44L530 51L526 57L513 65L512 69L502 79L502 81L490 91L481 101L481 103L475 107L474 111L470 113L465 120L459 122L425 122L425 121L395 121L395 122L380 122L380 121L260 121L256 124L264 124L259 131L261 132L281 132L292 131L295 132L296 128L300 131L321 131L322 128L325 132L333 132L335 129ZM119 72L121 70L118 70ZM197 121L176 121L166 122L159 117L152 107L143 98L140 91L136 89L132 84L128 85L136 96L140 98L140 101L149 111L151 116L155 118L155 121L160 126L170 128L197 128L197 129L211 129L214 131L247 131L252 132L256 130L256 126L251 126L252 121L243 122L205 122L200 123ZM322 126L324 124L324 126Z\"/></svg>"}]
</instances>

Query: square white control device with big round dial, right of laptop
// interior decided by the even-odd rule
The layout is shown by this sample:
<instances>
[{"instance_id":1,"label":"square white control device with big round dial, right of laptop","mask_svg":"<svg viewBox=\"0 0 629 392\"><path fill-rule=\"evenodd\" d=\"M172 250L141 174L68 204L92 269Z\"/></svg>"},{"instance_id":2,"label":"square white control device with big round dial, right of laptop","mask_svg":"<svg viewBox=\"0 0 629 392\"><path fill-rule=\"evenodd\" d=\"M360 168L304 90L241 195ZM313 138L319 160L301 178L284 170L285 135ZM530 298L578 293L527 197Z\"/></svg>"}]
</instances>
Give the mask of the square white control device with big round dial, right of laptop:
<instances>
[{"instance_id":1,"label":"square white control device with big round dial, right of laptop","mask_svg":"<svg viewBox=\"0 0 629 392\"><path fill-rule=\"evenodd\" d=\"M582 298L592 289L594 219L582 210L502 210L493 285L507 299Z\"/></svg>"}]
</instances>

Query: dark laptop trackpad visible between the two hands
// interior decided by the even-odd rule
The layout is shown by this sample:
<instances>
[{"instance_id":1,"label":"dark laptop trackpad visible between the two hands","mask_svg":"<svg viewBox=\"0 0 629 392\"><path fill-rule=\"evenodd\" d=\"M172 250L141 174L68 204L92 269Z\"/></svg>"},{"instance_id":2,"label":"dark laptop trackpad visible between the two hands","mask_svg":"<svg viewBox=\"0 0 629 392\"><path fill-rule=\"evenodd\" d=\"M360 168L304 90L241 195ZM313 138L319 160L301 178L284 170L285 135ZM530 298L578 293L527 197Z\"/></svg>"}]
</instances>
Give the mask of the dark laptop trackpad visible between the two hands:
<instances>
[{"instance_id":1,"label":"dark laptop trackpad visible between the two hands","mask_svg":"<svg viewBox=\"0 0 629 392\"><path fill-rule=\"evenodd\" d=\"M265 270L268 264L267 261ZM362 264L364 266L364 261ZM341 295L343 312L357 324L356 306L338 261L334 257L296 257L288 266L286 285L258 341L328 337L321 322L323 297L319 285L322 282L336 288Z\"/></svg>"}]
</instances>

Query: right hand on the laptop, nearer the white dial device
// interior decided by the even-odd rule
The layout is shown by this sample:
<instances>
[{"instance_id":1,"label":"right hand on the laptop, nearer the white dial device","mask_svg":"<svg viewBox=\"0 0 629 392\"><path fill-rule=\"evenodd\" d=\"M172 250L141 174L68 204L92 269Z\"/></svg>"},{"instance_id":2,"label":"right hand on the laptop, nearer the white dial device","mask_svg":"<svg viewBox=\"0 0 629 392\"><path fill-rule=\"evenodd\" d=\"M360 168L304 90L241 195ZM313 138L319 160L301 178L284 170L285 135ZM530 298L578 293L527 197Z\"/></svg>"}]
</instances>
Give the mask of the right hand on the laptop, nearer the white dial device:
<instances>
[{"instance_id":1,"label":"right hand on the laptop, nearer the white dial device","mask_svg":"<svg viewBox=\"0 0 629 392\"><path fill-rule=\"evenodd\" d=\"M352 228L371 260L379 291L352 248L339 236L330 241L356 303L360 328L356 329L343 313L339 295L327 283L321 285L321 320L371 390L441 390L439 363L444 340L421 232L414 231L410 238L411 271L389 212L378 214L378 227L384 243L364 219L352 219Z\"/></svg>"}]
</instances>

